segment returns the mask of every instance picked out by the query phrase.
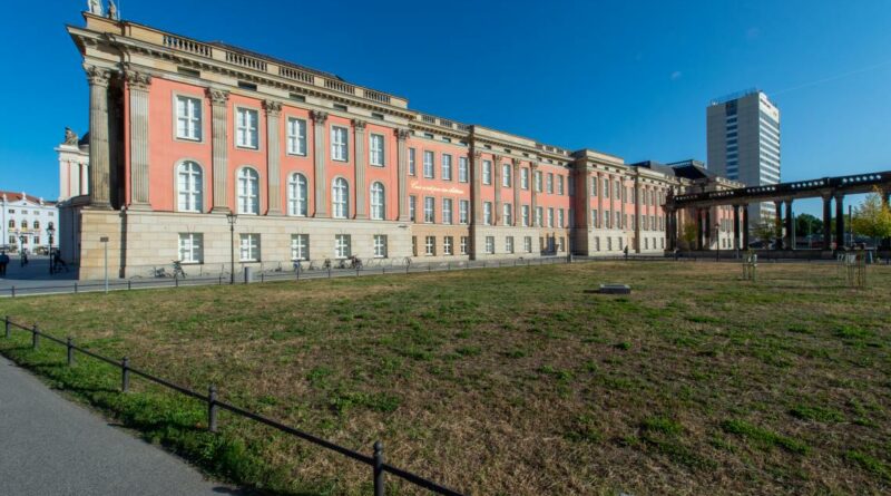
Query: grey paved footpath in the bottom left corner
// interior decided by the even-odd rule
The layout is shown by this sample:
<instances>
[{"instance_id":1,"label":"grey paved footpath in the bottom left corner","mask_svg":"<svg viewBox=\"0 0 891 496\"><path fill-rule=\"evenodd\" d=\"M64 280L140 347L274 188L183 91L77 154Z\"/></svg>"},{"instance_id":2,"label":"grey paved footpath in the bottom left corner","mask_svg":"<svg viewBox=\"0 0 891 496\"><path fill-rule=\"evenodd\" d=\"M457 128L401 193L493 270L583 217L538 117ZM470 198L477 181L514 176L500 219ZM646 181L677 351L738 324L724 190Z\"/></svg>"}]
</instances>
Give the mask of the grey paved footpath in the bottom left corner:
<instances>
[{"instance_id":1,"label":"grey paved footpath in the bottom left corner","mask_svg":"<svg viewBox=\"0 0 891 496\"><path fill-rule=\"evenodd\" d=\"M232 495L0 357L0 494Z\"/></svg>"}]
</instances>

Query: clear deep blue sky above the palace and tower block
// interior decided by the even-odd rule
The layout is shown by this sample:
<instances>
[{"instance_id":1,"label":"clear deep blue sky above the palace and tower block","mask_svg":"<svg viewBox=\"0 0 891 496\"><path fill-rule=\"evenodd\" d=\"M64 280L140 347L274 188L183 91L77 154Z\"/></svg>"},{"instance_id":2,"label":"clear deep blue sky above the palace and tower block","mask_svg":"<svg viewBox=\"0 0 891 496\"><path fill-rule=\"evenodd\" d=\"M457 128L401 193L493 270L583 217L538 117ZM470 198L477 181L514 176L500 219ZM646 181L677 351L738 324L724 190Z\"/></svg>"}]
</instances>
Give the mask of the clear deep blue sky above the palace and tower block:
<instances>
[{"instance_id":1,"label":"clear deep blue sky above the palace and tower block","mask_svg":"<svg viewBox=\"0 0 891 496\"><path fill-rule=\"evenodd\" d=\"M65 126L87 128L65 31L86 3L42 2L4 30L1 188L58 195L52 148ZM708 100L760 87L782 111L783 181L891 169L888 1L119 4L126 19L335 72L414 109L627 162L704 159Z\"/></svg>"}]
</instances>

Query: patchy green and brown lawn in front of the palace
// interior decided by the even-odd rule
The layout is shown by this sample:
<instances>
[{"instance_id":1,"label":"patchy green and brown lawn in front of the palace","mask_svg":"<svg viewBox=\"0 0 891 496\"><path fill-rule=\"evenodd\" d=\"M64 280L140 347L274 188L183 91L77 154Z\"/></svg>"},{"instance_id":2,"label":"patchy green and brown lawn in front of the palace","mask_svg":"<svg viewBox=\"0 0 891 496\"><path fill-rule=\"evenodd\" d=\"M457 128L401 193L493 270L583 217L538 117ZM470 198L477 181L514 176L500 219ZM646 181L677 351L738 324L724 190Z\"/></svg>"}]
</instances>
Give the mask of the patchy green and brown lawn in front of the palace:
<instances>
[{"instance_id":1,"label":"patchy green and brown lawn in front of the palace","mask_svg":"<svg viewBox=\"0 0 891 496\"><path fill-rule=\"evenodd\" d=\"M470 494L887 494L891 268L598 262L2 300L0 314ZM630 296L591 291L627 282ZM0 351L208 471L368 494L366 466L30 338ZM392 483L393 494L414 494Z\"/></svg>"}]
</instances>

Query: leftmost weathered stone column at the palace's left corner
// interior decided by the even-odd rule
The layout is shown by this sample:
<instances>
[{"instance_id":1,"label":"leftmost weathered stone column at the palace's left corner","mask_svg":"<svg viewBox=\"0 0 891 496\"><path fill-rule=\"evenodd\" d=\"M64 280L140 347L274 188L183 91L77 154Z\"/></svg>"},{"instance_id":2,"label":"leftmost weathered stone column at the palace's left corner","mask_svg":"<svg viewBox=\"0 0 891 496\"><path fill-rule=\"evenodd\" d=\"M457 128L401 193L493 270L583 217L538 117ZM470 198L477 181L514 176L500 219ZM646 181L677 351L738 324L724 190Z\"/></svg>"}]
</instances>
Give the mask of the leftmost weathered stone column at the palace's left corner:
<instances>
[{"instance_id":1,"label":"leftmost weathered stone column at the palace's left corner","mask_svg":"<svg viewBox=\"0 0 891 496\"><path fill-rule=\"evenodd\" d=\"M112 71L84 66L90 85L90 205L111 208L111 150L108 142L108 84Z\"/></svg>"}]
</instances>

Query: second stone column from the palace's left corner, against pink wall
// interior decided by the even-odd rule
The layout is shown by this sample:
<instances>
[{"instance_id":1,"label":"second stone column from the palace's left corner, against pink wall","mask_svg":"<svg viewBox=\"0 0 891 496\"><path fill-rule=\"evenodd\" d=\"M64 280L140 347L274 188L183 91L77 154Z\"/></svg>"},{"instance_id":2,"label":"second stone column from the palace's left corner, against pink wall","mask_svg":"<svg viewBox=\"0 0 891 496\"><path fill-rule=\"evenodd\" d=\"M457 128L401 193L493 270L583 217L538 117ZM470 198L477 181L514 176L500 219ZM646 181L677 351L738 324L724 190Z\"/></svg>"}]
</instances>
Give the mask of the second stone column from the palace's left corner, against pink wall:
<instances>
[{"instance_id":1,"label":"second stone column from the palace's left corner, against pink wall","mask_svg":"<svg viewBox=\"0 0 891 496\"><path fill-rule=\"evenodd\" d=\"M151 76L130 68L125 72L130 97L130 205L148 210L148 88Z\"/></svg>"}]
</instances>

